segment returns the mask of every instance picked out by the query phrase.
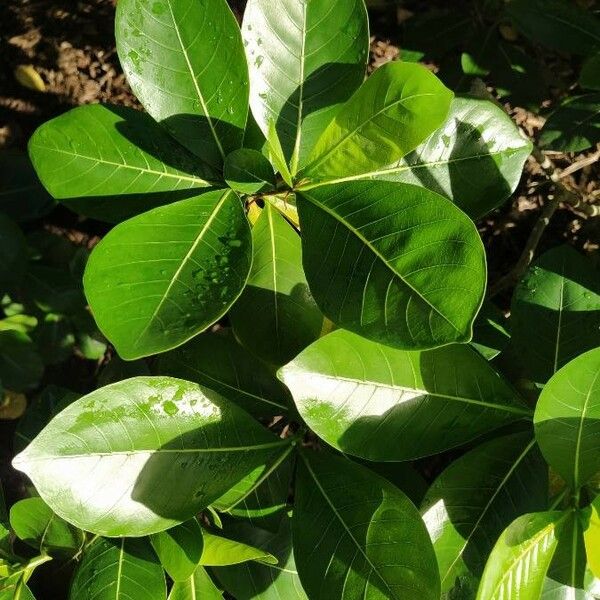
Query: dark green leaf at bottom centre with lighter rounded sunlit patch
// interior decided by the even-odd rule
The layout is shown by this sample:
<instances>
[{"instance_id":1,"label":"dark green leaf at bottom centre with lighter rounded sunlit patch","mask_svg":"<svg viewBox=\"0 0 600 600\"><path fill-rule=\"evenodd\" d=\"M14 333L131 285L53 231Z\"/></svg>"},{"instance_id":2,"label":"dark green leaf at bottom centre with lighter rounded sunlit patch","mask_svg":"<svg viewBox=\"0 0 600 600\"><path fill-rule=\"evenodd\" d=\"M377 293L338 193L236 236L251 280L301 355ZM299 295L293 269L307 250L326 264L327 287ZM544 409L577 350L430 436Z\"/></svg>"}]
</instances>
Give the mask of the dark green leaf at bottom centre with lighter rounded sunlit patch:
<instances>
[{"instance_id":1,"label":"dark green leaf at bottom centre with lighter rounded sunlit patch","mask_svg":"<svg viewBox=\"0 0 600 600\"><path fill-rule=\"evenodd\" d=\"M440 583L427 530L410 500L345 458L301 454L293 541L311 600L437 600Z\"/></svg>"}]
</instances>

